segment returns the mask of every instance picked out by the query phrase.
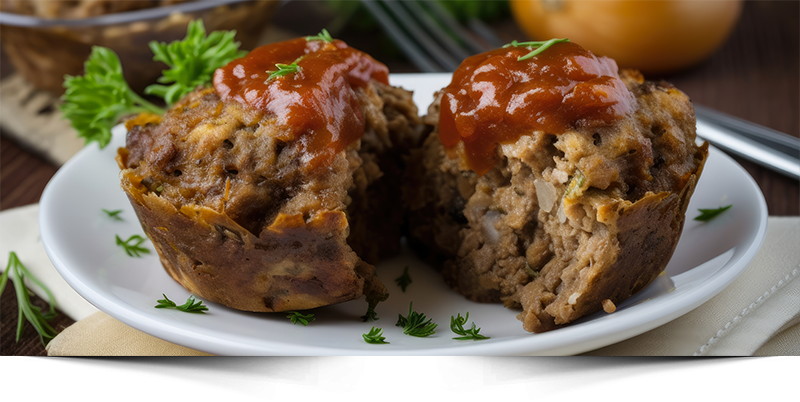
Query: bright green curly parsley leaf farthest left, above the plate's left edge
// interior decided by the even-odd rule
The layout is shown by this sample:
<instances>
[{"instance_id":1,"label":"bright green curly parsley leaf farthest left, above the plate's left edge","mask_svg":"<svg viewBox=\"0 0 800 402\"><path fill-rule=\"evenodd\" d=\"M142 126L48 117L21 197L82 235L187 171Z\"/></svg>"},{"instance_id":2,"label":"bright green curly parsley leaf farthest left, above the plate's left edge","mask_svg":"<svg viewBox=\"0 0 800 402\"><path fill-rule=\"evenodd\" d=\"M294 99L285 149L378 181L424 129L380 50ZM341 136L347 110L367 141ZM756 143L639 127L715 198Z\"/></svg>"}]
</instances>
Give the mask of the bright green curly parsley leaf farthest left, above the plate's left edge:
<instances>
[{"instance_id":1,"label":"bright green curly parsley leaf farthest left, above the plate's left edge","mask_svg":"<svg viewBox=\"0 0 800 402\"><path fill-rule=\"evenodd\" d=\"M163 114L164 109L134 92L122 76L122 64L113 50L92 47L84 63L84 75L64 77L63 101L59 106L78 137L104 148L111 141L111 128L123 117L142 112Z\"/></svg>"}]
</instances>

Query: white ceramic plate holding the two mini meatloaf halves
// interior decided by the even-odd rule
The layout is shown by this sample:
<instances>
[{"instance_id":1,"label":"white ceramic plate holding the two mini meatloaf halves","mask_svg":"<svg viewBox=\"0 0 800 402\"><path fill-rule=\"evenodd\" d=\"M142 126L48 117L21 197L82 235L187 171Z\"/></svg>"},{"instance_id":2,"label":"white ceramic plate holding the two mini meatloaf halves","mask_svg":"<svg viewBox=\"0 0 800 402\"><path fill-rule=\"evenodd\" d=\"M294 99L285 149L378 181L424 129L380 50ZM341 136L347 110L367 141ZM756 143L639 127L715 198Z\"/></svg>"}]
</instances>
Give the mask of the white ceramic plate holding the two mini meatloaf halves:
<instances>
[{"instance_id":1,"label":"white ceramic plate holding the two mini meatloaf halves","mask_svg":"<svg viewBox=\"0 0 800 402\"><path fill-rule=\"evenodd\" d=\"M424 111L449 75L400 74L391 80L414 90L415 101ZM153 308L162 293L181 303L189 296L163 270L154 251L132 258L115 245L115 235L143 234L118 185L114 155L123 144L124 129L117 127L108 147L87 146L47 185L40 202L40 230L47 253L67 283L100 310L151 335L220 355L581 353L628 339L701 305L747 267L766 231L767 207L758 186L730 157L712 148L666 275L613 314L600 312L555 331L527 333L516 319L518 311L465 300L410 252L378 266L391 293L377 308L378 321L359 319L366 312L363 298L312 310L316 320L308 326L293 325L285 314L247 313L211 302L206 302L207 314L187 314ZM698 208L728 204L733 208L708 223L692 219ZM122 209L125 220L109 219L103 208ZM145 245L152 250L149 242ZM404 293L394 279L406 266L413 282ZM415 338L395 326L398 314L406 315L411 302L414 310L438 324L436 334ZM449 328L451 315L467 312L469 321L491 339L452 339L456 335ZM372 326L383 328L390 343L364 342L361 335Z\"/></svg>"}]
</instances>

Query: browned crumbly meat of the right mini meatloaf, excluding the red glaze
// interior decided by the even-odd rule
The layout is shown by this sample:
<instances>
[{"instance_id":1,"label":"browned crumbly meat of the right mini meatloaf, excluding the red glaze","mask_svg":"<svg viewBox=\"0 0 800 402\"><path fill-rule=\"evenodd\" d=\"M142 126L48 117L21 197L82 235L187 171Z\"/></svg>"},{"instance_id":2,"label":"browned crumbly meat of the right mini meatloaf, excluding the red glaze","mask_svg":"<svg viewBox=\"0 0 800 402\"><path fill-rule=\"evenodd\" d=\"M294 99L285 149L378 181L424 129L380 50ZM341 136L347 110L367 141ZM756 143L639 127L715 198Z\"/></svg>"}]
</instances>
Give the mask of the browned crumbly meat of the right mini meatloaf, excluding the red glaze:
<instances>
[{"instance_id":1,"label":"browned crumbly meat of the right mini meatloaf, excluding the red glaze","mask_svg":"<svg viewBox=\"0 0 800 402\"><path fill-rule=\"evenodd\" d=\"M543 332L613 311L665 268L707 157L694 109L666 83L621 79L636 112L594 131L534 131L497 147L483 176L450 158L433 127L409 163L410 241L470 300L522 308Z\"/></svg>"}]
</instances>

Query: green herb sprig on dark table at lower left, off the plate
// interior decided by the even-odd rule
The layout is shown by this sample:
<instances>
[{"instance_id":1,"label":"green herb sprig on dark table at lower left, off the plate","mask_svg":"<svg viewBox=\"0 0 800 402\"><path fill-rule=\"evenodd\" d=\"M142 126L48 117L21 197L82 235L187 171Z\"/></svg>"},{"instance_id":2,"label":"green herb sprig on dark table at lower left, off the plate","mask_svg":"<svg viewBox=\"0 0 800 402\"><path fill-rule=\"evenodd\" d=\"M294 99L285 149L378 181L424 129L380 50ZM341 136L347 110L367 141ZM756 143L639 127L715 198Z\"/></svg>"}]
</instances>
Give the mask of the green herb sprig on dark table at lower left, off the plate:
<instances>
[{"instance_id":1,"label":"green herb sprig on dark table at lower left, off the plate","mask_svg":"<svg viewBox=\"0 0 800 402\"><path fill-rule=\"evenodd\" d=\"M53 339L53 337L58 334L58 331L56 331L47 322L57 315L55 309L55 298L50 292L50 289L48 289L47 286L39 281L39 279L33 276L24 265L22 265L22 263L19 261L19 258L17 258L17 254L13 251L8 257L8 265L6 266L6 270L3 272L3 275L0 275L0 294L2 294L6 288L6 283L8 282L11 271L14 271L14 276L12 277L11 281L14 282L14 290L17 293L17 342L19 342L19 339L22 337L25 324L24 320L28 320L28 322L33 325L33 328L36 329L36 333L39 334L39 340L42 341L42 344L47 344L50 339ZM45 293L47 293L50 311L42 313L41 308L34 306L33 303L31 303L29 294L30 291L27 287L25 287L25 280L35 283L42 288Z\"/></svg>"}]
</instances>

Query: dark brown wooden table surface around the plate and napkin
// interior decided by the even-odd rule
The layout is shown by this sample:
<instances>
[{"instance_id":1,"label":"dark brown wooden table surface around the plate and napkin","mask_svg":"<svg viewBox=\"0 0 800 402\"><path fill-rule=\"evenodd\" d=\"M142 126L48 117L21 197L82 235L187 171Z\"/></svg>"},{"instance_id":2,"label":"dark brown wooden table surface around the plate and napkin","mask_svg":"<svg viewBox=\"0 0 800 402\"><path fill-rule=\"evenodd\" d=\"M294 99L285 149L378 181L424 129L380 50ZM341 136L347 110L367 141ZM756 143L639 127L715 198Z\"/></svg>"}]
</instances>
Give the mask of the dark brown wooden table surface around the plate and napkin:
<instances>
[{"instance_id":1,"label":"dark brown wooden table surface around the plate and napkin","mask_svg":"<svg viewBox=\"0 0 800 402\"><path fill-rule=\"evenodd\" d=\"M307 0L308 1L312 0ZM279 11L276 24L300 35L323 26L309 18L302 1ZM696 104L800 137L800 2L746 0L742 18L725 45L703 64L663 78L686 92ZM494 24L505 39L524 39L513 20ZM385 54L377 35L345 31L338 35L354 47L370 52L394 72L414 72L401 56ZM13 70L0 53L0 78ZM56 172L54 166L0 131L0 211L36 203ZM800 215L800 182L746 160L736 160L753 176L767 201L770 215ZM3 228L5 230L5 228ZM5 264L7 256L0 256ZM41 301L38 301L41 303ZM42 304L43 305L43 304ZM73 321L60 314L52 321L63 329ZM12 286L0 297L0 355L44 356L45 349L33 328L15 342L17 303Z\"/></svg>"}]
</instances>

